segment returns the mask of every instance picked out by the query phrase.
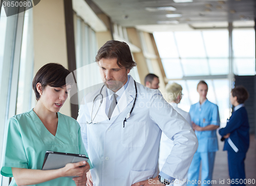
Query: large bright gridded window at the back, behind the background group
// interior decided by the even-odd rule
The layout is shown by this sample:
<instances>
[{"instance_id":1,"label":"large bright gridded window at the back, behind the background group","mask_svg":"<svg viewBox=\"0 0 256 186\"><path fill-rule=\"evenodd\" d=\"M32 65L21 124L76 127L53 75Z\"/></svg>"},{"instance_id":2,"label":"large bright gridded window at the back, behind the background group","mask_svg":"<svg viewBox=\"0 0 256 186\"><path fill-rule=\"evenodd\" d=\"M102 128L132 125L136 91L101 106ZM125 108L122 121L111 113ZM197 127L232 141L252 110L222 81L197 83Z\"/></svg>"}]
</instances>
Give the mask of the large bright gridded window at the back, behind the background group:
<instances>
[{"instance_id":1,"label":"large bright gridded window at the back, behind the background group","mask_svg":"<svg viewBox=\"0 0 256 186\"><path fill-rule=\"evenodd\" d=\"M188 112L190 105L199 101L197 84L201 79L193 76L201 76L208 84L208 100L219 106L222 123L230 114L229 81L218 77L228 74L228 37L228 30L154 33L166 77L177 79L183 88L179 107ZM255 31L235 29L232 37L234 74L255 75ZM216 78L208 79L209 75ZM191 80L178 80L182 78Z\"/></svg>"}]
</instances>

